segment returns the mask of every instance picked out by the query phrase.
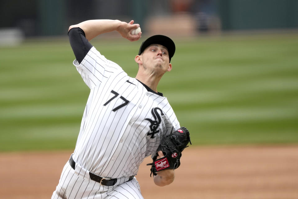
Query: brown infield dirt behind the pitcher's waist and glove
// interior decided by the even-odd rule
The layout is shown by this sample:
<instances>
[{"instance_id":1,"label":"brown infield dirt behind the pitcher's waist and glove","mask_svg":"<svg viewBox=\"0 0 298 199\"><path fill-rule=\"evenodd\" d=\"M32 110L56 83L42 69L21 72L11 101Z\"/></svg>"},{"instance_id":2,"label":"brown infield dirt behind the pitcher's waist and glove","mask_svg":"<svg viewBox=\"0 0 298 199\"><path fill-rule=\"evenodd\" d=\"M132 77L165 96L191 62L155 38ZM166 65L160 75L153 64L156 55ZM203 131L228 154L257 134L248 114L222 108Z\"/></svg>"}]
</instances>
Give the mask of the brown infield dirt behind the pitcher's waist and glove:
<instances>
[{"instance_id":1,"label":"brown infield dirt behind the pitcher's waist and glove","mask_svg":"<svg viewBox=\"0 0 298 199\"><path fill-rule=\"evenodd\" d=\"M0 153L1 198L51 198L71 152ZM298 146L191 146L165 187L154 185L150 162L136 176L145 199L298 198Z\"/></svg>"}]
</instances>

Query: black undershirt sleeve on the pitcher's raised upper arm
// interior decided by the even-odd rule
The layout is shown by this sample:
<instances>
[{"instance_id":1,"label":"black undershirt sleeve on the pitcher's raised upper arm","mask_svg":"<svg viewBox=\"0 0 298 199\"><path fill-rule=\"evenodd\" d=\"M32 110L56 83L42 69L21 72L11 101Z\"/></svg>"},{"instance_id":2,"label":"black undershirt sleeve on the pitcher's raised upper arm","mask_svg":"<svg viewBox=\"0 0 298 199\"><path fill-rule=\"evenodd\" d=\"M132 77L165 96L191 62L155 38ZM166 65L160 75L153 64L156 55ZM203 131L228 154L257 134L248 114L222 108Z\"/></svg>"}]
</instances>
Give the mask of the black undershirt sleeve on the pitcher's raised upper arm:
<instances>
[{"instance_id":1,"label":"black undershirt sleeve on the pitcher's raised upper arm","mask_svg":"<svg viewBox=\"0 0 298 199\"><path fill-rule=\"evenodd\" d=\"M70 29L68 38L76 60L81 63L93 45L86 39L84 30L79 27Z\"/></svg>"}]
</instances>

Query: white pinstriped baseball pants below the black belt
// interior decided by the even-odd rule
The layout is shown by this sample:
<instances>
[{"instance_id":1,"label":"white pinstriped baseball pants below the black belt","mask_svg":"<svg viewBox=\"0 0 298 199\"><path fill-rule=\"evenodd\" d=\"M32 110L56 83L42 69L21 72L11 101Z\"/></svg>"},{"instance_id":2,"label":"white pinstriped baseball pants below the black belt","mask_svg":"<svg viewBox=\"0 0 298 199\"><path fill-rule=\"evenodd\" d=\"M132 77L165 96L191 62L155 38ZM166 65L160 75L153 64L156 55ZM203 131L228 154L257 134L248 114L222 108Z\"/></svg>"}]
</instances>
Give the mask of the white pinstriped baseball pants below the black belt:
<instances>
[{"instance_id":1,"label":"white pinstriped baseball pants below the black belt","mask_svg":"<svg viewBox=\"0 0 298 199\"><path fill-rule=\"evenodd\" d=\"M136 178L126 180L128 177L118 178L114 186L103 186L91 180L84 168L76 164L74 170L67 161L52 199L144 199Z\"/></svg>"}]
</instances>

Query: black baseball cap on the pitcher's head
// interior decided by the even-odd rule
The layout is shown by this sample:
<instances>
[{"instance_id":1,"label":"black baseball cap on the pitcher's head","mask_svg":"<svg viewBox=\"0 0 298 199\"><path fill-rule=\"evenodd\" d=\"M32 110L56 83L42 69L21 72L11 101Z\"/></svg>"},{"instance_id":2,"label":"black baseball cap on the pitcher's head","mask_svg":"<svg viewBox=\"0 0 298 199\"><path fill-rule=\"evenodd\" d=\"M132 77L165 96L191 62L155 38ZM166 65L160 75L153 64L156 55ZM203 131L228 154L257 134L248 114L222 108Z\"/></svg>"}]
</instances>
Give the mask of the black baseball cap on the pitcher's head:
<instances>
[{"instance_id":1,"label":"black baseball cap on the pitcher's head","mask_svg":"<svg viewBox=\"0 0 298 199\"><path fill-rule=\"evenodd\" d=\"M170 62L171 62L171 58L174 56L174 53L175 53L175 44L172 39L170 39L169 37L167 37L165 35L153 35L153 36L149 37L148 39L146 39L145 41L143 41L138 55L142 54L142 52L151 44L160 44L160 45L165 46L168 49L169 58L170 58Z\"/></svg>"}]
</instances>

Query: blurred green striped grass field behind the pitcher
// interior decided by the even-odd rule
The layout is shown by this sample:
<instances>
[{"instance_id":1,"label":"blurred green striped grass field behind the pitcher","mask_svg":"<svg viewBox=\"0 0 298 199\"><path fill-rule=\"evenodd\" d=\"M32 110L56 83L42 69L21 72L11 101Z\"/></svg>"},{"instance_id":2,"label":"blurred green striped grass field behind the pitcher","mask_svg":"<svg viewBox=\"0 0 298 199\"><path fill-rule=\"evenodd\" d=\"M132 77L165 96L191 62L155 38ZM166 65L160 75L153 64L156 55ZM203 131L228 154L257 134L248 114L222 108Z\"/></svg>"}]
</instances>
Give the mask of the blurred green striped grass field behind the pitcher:
<instances>
[{"instance_id":1,"label":"blurred green striped grass field behind the pitcher","mask_svg":"<svg viewBox=\"0 0 298 199\"><path fill-rule=\"evenodd\" d=\"M298 143L298 34L174 41L158 90L193 144ZM91 43L135 76L141 41ZM67 38L0 47L0 151L74 149L89 89L73 59Z\"/></svg>"}]
</instances>

